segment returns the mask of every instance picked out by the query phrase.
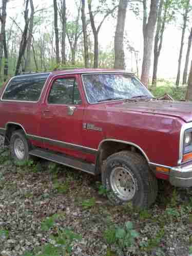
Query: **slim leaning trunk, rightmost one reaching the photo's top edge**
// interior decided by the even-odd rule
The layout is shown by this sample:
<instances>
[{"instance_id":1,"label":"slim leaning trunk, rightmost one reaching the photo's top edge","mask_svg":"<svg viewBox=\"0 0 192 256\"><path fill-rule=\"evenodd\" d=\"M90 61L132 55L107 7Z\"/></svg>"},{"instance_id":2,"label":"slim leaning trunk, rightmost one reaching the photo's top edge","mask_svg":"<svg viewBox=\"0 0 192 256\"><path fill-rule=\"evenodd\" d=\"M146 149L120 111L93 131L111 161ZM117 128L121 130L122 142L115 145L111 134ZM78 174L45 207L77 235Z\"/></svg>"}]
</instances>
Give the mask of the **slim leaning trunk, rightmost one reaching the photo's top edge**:
<instances>
[{"instance_id":1,"label":"slim leaning trunk, rightmost one reaching the photo's top edge","mask_svg":"<svg viewBox=\"0 0 192 256\"><path fill-rule=\"evenodd\" d=\"M187 1L186 7L185 7L185 13L183 15L183 28L182 28L181 47L180 47L179 60L178 60L178 71L177 71L176 86L179 86L179 82L180 82L181 60L182 60L182 53L183 53L183 45L184 45L184 37L185 37L185 30L186 30L186 25L187 25L188 12L189 12L189 0Z\"/></svg>"}]
</instances>

